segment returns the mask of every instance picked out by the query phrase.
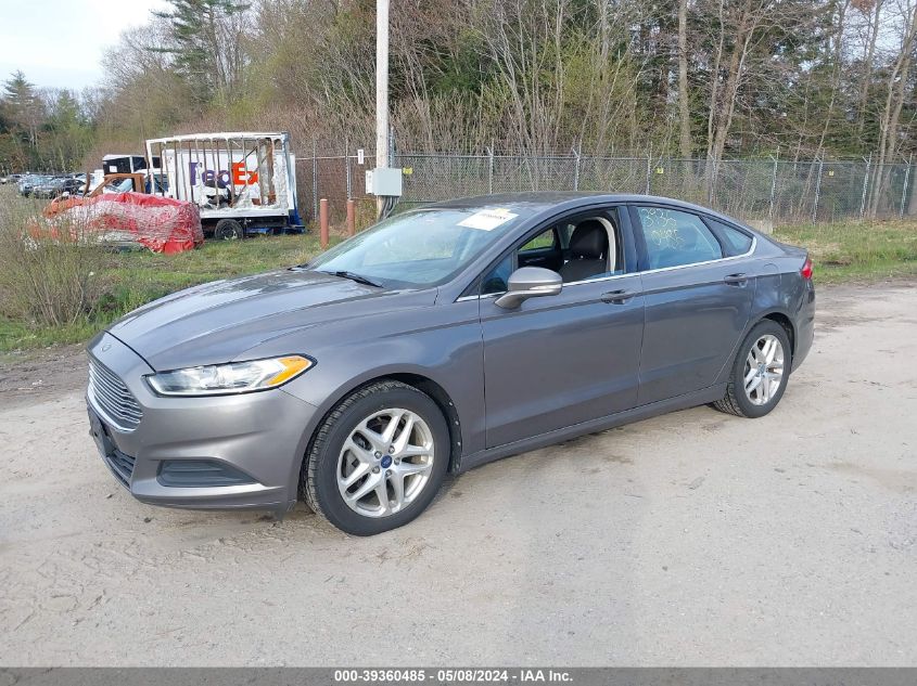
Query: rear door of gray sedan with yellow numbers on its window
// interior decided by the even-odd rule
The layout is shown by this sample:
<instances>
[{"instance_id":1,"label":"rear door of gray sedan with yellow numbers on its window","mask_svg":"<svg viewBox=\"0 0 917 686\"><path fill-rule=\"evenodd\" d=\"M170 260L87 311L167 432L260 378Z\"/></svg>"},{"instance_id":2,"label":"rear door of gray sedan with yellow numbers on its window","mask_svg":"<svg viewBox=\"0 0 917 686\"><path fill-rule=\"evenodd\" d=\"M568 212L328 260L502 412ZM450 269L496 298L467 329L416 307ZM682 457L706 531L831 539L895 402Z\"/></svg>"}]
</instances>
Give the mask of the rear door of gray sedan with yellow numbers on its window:
<instances>
[{"instance_id":1,"label":"rear door of gray sedan with yellow numbers on its window","mask_svg":"<svg viewBox=\"0 0 917 686\"><path fill-rule=\"evenodd\" d=\"M631 219L646 308L644 405L713 385L748 323L755 279L751 259L731 255L699 213L634 205Z\"/></svg>"}]
</instances>

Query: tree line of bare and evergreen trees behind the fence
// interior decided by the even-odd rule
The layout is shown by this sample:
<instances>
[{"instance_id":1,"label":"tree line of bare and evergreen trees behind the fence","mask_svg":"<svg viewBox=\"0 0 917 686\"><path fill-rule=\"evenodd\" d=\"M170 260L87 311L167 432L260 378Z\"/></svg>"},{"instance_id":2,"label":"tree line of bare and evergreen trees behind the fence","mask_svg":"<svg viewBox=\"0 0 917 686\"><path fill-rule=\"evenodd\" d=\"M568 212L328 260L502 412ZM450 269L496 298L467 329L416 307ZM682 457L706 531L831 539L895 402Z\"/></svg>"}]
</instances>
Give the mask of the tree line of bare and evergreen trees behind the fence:
<instances>
[{"instance_id":1,"label":"tree line of bare and evergreen trees behind the fence","mask_svg":"<svg viewBox=\"0 0 917 686\"><path fill-rule=\"evenodd\" d=\"M0 165L194 130L374 140L374 0L171 0L105 81L0 96ZM403 151L858 157L915 148L917 0L392 0Z\"/></svg>"}]
</instances>

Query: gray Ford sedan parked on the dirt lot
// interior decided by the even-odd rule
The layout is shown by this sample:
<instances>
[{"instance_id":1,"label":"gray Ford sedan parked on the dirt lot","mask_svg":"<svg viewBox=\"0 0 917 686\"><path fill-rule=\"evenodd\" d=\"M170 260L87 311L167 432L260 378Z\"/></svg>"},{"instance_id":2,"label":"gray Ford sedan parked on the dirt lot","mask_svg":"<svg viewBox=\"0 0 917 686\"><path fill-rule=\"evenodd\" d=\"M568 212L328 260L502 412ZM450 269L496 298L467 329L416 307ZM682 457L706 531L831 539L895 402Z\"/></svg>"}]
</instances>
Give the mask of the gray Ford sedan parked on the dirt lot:
<instances>
[{"instance_id":1,"label":"gray Ford sedan parked on the dirt lot","mask_svg":"<svg viewBox=\"0 0 917 686\"><path fill-rule=\"evenodd\" d=\"M447 471L710 403L761 417L810 350L805 250L660 197L428 206L307 264L152 302L89 345L139 500L407 523Z\"/></svg>"}]
</instances>

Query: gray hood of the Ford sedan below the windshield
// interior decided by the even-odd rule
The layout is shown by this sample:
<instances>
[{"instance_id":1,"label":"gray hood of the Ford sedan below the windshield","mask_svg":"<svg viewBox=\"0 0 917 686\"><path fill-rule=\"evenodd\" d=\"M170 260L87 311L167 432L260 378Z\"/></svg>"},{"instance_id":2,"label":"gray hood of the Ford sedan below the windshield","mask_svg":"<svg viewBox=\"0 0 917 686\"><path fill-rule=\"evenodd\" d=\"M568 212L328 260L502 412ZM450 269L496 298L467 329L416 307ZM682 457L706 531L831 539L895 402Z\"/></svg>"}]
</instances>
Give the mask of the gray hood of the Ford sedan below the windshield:
<instances>
[{"instance_id":1,"label":"gray hood of the Ford sedan below the windshield","mask_svg":"<svg viewBox=\"0 0 917 686\"><path fill-rule=\"evenodd\" d=\"M433 305L436 290L391 290L303 269L217 281L135 310L109 327L156 371L253 359L300 329ZM288 352L308 353L308 350Z\"/></svg>"}]
</instances>

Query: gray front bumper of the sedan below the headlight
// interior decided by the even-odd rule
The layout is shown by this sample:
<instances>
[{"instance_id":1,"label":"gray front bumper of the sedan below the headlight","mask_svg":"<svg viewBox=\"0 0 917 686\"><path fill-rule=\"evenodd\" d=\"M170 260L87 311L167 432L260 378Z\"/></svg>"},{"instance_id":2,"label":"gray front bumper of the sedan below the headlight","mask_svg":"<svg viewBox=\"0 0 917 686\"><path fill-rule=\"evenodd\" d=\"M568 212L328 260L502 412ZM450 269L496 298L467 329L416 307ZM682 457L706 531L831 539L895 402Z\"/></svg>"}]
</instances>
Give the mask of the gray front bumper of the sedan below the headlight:
<instances>
[{"instance_id":1,"label":"gray front bumper of the sedan below the headlight","mask_svg":"<svg viewBox=\"0 0 917 686\"><path fill-rule=\"evenodd\" d=\"M89 354L123 381L142 411L136 428L125 428L106 412L102 393L97 397L91 385L87 389L90 433L112 474L135 497L188 508L293 506L315 406L282 388L163 398L143 380L153 370L114 336L99 336ZM195 470L198 465L221 476L202 476L195 483L194 475L206 473ZM176 474L182 486L174 484Z\"/></svg>"}]
</instances>

